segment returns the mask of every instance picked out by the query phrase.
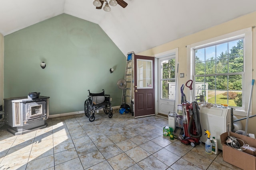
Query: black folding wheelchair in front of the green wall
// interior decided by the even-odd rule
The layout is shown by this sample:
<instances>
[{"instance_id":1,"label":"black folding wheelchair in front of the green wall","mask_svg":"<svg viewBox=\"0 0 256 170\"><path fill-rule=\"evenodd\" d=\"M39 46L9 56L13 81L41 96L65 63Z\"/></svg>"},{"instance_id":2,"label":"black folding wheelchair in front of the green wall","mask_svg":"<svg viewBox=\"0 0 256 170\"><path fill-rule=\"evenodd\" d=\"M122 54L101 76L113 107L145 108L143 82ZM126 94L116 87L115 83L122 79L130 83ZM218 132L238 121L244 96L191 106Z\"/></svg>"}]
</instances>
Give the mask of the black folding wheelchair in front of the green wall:
<instances>
[{"instance_id":1,"label":"black folding wheelchair in front of the green wall","mask_svg":"<svg viewBox=\"0 0 256 170\"><path fill-rule=\"evenodd\" d=\"M88 99L86 99L84 102L84 113L86 117L89 118L90 122L95 120L94 113L99 109L103 109L106 115L109 114L109 118L113 116L112 106L110 103L110 95L105 94L104 89L102 89L102 91L103 92L101 93L91 93L90 90L88 90L89 96Z\"/></svg>"}]
</instances>

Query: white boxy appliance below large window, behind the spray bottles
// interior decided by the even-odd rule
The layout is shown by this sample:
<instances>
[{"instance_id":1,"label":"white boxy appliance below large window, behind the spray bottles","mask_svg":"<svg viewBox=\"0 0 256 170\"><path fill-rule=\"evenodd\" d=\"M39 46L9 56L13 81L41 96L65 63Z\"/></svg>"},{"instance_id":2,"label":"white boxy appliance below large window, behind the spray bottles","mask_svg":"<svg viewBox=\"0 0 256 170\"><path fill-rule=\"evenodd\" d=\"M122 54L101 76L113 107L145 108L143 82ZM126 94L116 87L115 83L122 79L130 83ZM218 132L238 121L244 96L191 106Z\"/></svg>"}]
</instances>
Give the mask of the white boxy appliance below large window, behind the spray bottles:
<instances>
[{"instance_id":1,"label":"white boxy appliance below large window, behind the spray bottles","mask_svg":"<svg viewBox=\"0 0 256 170\"><path fill-rule=\"evenodd\" d=\"M222 150L220 142L220 135L224 132L231 131L231 109L199 106L200 110L200 123L202 127L201 141L203 143L207 140L207 135L204 135L204 130L210 131L210 137L215 137L218 141L218 149Z\"/></svg>"}]
</instances>

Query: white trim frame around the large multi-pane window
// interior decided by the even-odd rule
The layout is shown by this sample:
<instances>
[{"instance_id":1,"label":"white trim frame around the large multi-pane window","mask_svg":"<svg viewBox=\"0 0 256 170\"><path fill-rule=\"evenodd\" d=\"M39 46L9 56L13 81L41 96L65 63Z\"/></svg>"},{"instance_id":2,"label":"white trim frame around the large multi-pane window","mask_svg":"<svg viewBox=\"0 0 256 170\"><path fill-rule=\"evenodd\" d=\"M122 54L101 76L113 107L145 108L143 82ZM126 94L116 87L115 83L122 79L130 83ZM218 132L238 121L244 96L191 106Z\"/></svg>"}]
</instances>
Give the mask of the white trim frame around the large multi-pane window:
<instances>
[{"instance_id":1,"label":"white trim frame around the large multi-pane window","mask_svg":"<svg viewBox=\"0 0 256 170\"><path fill-rule=\"evenodd\" d=\"M250 90L245 89L251 89L252 85L252 27L248 27L239 31L234 31L232 33L227 33L225 35L220 35L218 37L187 45L187 68L188 76L191 80L195 80L194 49L216 45L218 43L231 41L233 39L238 39L242 37L244 37L244 80L242 80L242 108L236 107L236 109L234 110L234 115L246 116L250 98ZM195 91L194 83L192 84L192 87L193 91ZM187 93L189 94L189 90L187 90ZM250 115L252 115L251 110L252 108L250 109Z\"/></svg>"}]
</instances>

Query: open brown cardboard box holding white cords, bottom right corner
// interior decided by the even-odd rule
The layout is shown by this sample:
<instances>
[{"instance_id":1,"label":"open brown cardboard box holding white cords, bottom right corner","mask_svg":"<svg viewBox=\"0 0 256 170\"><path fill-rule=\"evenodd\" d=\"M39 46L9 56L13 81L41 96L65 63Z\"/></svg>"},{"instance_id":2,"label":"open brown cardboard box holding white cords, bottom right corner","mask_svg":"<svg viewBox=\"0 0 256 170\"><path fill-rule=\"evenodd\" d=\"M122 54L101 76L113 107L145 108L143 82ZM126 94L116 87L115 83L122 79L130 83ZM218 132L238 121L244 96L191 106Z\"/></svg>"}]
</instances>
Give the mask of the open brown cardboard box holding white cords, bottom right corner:
<instances>
[{"instance_id":1,"label":"open brown cardboard box holding white cords, bottom right corner","mask_svg":"<svg viewBox=\"0 0 256 170\"><path fill-rule=\"evenodd\" d=\"M238 150L226 145L226 140L228 136L233 136L241 139L244 141L245 144L248 144L252 147L256 147L256 139L233 132L225 132L220 135L223 160L225 162L228 162L244 170L256 170L256 156L252 156L246 152L243 152L242 150ZM238 140L238 142L241 144L240 140Z\"/></svg>"}]
</instances>

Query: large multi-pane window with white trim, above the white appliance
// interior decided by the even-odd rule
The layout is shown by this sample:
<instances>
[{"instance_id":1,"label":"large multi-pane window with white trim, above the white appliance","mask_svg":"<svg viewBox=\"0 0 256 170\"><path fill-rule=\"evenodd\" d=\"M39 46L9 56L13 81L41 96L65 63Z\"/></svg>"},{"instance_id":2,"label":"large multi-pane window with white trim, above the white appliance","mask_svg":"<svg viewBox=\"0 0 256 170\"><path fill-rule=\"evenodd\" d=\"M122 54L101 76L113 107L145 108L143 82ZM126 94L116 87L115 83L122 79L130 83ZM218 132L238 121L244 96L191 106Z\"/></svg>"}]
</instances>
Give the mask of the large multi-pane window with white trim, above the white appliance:
<instances>
[{"instance_id":1,"label":"large multi-pane window with white trim, above the white appliance","mask_svg":"<svg viewBox=\"0 0 256 170\"><path fill-rule=\"evenodd\" d=\"M236 115L246 115L252 82L252 29L188 48L194 96L213 104L227 104L236 109Z\"/></svg>"}]
</instances>

